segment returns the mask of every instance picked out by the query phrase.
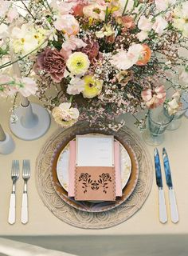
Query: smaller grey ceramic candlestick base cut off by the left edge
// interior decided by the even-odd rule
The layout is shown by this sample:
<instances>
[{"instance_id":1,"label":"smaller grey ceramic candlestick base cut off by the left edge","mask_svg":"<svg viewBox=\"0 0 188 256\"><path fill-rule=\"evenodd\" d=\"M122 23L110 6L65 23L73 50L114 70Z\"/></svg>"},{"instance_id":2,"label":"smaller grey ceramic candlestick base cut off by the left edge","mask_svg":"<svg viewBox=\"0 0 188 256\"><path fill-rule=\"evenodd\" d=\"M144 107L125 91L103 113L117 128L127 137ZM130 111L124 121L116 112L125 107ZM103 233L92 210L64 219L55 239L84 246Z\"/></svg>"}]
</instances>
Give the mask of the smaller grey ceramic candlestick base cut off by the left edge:
<instances>
[{"instance_id":1,"label":"smaller grey ceramic candlestick base cut off by the left edge","mask_svg":"<svg viewBox=\"0 0 188 256\"><path fill-rule=\"evenodd\" d=\"M14 151L14 140L6 134L0 125L0 154L10 154Z\"/></svg>"}]
</instances>

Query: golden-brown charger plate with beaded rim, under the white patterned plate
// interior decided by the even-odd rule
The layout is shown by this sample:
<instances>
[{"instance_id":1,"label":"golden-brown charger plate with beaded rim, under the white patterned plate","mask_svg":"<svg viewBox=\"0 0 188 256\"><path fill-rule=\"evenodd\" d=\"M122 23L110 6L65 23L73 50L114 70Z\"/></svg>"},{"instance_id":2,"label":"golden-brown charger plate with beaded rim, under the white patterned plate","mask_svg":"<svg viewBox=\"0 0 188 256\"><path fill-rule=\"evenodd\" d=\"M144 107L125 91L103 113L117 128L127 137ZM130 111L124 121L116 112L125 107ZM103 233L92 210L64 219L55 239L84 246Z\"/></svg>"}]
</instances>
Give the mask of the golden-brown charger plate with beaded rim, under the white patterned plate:
<instances>
[{"instance_id":1,"label":"golden-brown charger plate with beaded rim, under the white patterned plate","mask_svg":"<svg viewBox=\"0 0 188 256\"><path fill-rule=\"evenodd\" d=\"M88 128L89 130L89 128ZM92 132L86 132L86 133L80 133L80 134L91 134ZM101 130L97 130L97 134L104 134ZM61 197L61 199L68 203L69 206L72 206L76 208L77 210L83 210L87 212L103 212L106 210L112 210L113 208L116 208L123 202L129 198L133 190L135 189L136 183L139 178L139 164L135 156L135 152L131 149L130 146L127 146L126 143L121 142L121 140L118 138L118 136L115 135L115 139L118 140L123 147L127 150L127 153L129 154L131 158L131 175L127 182L127 186L123 188L123 195L122 197L119 197L116 199L116 202L78 202L75 201L74 198L69 198L67 191L61 186L58 177L57 177L57 161L60 157L60 154L62 150L65 149L65 147L69 144L69 142L76 137L76 134L70 134L69 138L66 138L64 142L57 146L57 149L55 150L53 154L53 158L51 161L50 166L50 174L51 174L51 181L54 187L54 190L57 192L57 194Z\"/></svg>"}]
</instances>

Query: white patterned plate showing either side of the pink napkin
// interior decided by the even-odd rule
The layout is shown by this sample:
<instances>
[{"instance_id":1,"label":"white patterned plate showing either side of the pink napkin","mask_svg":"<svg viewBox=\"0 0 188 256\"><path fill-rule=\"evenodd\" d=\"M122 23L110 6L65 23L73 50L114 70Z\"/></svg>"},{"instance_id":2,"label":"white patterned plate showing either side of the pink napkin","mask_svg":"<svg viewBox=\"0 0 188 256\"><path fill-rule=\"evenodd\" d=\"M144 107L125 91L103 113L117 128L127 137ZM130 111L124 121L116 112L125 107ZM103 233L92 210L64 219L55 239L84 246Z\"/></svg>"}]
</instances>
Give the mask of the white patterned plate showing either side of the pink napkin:
<instances>
[{"instance_id":1,"label":"white patterned plate showing either side of the pink napkin","mask_svg":"<svg viewBox=\"0 0 188 256\"><path fill-rule=\"evenodd\" d=\"M131 158L127 150L120 144L120 170L122 190L131 174ZM69 144L62 150L57 160L57 178L61 186L68 191L69 184Z\"/></svg>"}]
</instances>

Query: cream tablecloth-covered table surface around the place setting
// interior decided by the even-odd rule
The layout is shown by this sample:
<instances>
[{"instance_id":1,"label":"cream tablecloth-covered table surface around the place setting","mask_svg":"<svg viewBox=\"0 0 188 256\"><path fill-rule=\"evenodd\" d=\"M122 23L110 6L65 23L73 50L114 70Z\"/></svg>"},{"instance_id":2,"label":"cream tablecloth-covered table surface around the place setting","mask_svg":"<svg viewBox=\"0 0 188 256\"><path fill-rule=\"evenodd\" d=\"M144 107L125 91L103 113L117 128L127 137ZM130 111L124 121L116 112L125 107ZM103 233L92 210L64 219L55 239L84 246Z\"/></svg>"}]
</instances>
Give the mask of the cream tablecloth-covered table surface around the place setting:
<instances>
[{"instance_id":1,"label":"cream tablecloth-covered table surface around the place setting","mask_svg":"<svg viewBox=\"0 0 188 256\"><path fill-rule=\"evenodd\" d=\"M36 99L32 98L32 102L36 101ZM8 133L10 133L10 106L10 100L1 99L0 123ZM130 115L125 115L125 118L127 120L127 126L141 137L139 130L134 127L134 118ZM84 230L69 226L55 217L49 209L46 208L37 193L35 184L35 163L37 155L39 154L41 147L57 128L57 124L52 119L49 131L42 138L32 142L22 141L15 138L13 135L16 149L12 154L0 155L0 235L188 234L188 120L186 118L182 118L182 126L178 130L166 132L165 142L158 147L160 155L162 154L163 146L166 147L169 154L174 190L178 202L179 222L173 224L170 221L168 189L165 182L163 183L165 184L164 191L167 199L168 222L166 222L166 224L161 224L159 222L158 188L155 185L154 178L151 194L143 207L126 222L105 230ZM147 149L153 159L154 147L147 146ZM17 222L11 226L7 222L12 187L10 178L11 162L13 159L22 161L25 158L30 159L32 170L31 178L29 180L29 222L26 225L22 225L21 223L23 190L23 181L21 177L17 184ZM163 181L165 181L164 172Z\"/></svg>"}]
</instances>

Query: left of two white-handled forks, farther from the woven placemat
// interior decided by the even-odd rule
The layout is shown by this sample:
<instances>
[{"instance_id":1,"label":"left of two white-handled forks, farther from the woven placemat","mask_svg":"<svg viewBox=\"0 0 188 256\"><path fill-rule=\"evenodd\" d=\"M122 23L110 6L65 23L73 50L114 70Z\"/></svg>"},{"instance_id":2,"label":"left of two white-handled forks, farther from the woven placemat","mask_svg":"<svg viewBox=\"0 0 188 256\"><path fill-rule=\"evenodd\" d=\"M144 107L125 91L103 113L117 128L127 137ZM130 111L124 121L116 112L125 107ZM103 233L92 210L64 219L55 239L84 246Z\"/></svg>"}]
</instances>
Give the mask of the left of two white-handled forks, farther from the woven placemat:
<instances>
[{"instance_id":1,"label":"left of two white-handled forks, farther from the woven placemat","mask_svg":"<svg viewBox=\"0 0 188 256\"><path fill-rule=\"evenodd\" d=\"M12 193L10 195L10 207L9 207L9 219L8 222L10 224L14 224L16 221L16 182L19 178L19 162L18 160L13 160L12 162L12 170L11 170L11 178L13 181Z\"/></svg>"}]
</instances>

